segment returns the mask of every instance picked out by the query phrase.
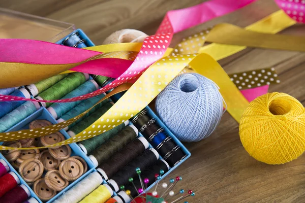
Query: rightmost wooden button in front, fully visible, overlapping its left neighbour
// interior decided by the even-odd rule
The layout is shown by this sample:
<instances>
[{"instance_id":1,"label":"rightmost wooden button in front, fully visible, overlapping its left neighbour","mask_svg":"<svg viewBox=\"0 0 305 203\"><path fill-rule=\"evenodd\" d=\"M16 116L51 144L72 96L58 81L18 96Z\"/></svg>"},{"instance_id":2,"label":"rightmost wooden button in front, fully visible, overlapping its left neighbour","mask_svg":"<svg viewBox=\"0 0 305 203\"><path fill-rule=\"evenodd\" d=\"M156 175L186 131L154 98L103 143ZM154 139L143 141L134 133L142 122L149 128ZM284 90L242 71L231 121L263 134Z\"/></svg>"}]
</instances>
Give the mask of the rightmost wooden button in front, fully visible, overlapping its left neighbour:
<instances>
[{"instance_id":1,"label":"rightmost wooden button in front, fully visible, overlapping its left neighbour","mask_svg":"<svg viewBox=\"0 0 305 203\"><path fill-rule=\"evenodd\" d=\"M60 175L67 181L75 181L84 172L82 163L76 158L68 158L59 165Z\"/></svg>"}]
</instances>

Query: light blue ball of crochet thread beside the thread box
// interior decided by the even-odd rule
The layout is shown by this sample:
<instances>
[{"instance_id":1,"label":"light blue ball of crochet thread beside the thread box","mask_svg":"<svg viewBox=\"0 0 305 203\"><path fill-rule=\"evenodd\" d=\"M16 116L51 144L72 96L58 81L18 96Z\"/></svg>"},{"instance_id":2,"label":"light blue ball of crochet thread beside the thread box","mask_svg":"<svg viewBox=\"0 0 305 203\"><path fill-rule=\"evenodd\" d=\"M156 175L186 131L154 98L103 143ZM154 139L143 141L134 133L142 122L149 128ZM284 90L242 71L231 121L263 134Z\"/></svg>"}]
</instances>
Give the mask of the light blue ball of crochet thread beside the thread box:
<instances>
[{"instance_id":1,"label":"light blue ball of crochet thread beside the thread box","mask_svg":"<svg viewBox=\"0 0 305 203\"><path fill-rule=\"evenodd\" d=\"M181 74L157 97L160 119L185 142L207 138L223 115L223 97L218 86L199 74Z\"/></svg>"}]
</instances>

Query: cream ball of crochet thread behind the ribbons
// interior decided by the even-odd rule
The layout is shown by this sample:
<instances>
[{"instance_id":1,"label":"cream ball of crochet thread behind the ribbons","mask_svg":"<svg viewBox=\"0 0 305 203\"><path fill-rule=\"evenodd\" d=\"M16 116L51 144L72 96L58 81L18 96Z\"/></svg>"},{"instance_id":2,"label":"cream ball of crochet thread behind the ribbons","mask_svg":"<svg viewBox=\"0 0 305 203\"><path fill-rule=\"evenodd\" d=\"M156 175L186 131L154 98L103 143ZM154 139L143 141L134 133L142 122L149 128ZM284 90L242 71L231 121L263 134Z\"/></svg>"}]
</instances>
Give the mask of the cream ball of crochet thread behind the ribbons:
<instances>
[{"instance_id":1,"label":"cream ball of crochet thread behind the ribbons","mask_svg":"<svg viewBox=\"0 0 305 203\"><path fill-rule=\"evenodd\" d=\"M107 37L103 44L143 42L148 37L144 32L136 29L121 29Z\"/></svg>"}]
</instances>

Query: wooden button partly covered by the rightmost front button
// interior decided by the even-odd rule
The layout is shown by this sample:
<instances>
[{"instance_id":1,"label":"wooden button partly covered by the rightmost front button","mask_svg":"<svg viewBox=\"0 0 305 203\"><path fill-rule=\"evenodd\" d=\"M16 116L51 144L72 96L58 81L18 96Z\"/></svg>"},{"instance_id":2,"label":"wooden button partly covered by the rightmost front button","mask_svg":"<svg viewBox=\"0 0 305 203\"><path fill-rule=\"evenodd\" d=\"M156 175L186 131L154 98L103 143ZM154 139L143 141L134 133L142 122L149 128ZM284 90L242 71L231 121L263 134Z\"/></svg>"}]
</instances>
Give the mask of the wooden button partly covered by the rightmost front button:
<instances>
[{"instance_id":1,"label":"wooden button partly covered by the rightmost front button","mask_svg":"<svg viewBox=\"0 0 305 203\"><path fill-rule=\"evenodd\" d=\"M60 176L58 170L48 171L45 175L45 182L49 188L58 192L69 185L69 182Z\"/></svg>"}]
</instances>

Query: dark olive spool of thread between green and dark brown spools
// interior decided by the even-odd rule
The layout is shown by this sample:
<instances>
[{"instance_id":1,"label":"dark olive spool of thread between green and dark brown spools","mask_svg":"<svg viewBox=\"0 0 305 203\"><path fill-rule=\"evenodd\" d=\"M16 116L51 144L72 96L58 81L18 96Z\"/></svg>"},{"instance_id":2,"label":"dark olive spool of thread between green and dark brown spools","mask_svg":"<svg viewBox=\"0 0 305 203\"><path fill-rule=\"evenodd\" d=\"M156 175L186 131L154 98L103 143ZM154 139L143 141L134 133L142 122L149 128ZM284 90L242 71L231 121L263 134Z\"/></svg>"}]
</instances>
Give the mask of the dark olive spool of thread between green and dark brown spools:
<instances>
[{"instance_id":1,"label":"dark olive spool of thread between green and dark brown spools","mask_svg":"<svg viewBox=\"0 0 305 203\"><path fill-rule=\"evenodd\" d=\"M135 140L138 136L138 130L134 125L130 125L120 130L110 140L103 143L100 147L93 151L89 158L93 161L95 166L100 165L103 161L110 158L115 152L126 147L131 141ZM142 140L142 139L141 139ZM145 140L145 139L143 139ZM143 141L145 144L147 141ZM132 146L137 146L141 143L135 143ZM148 144L148 143L147 143Z\"/></svg>"}]
</instances>

